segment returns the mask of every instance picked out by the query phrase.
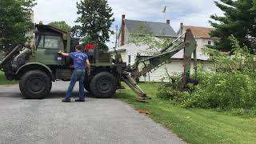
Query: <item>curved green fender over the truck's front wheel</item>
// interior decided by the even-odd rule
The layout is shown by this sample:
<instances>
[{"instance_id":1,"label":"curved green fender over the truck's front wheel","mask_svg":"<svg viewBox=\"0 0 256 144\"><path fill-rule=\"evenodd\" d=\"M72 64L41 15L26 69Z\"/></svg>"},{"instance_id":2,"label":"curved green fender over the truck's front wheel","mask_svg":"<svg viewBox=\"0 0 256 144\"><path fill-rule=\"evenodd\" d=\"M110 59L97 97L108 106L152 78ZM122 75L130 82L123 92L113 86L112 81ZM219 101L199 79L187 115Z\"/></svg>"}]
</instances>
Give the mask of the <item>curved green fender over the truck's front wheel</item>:
<instances>
[{"instance_id":1,"label":"curved green fender over the truck's front wheel","mask_svg":"<svg viewBox=\"0 0 256 144\"><path fill-rule=\"evenodd\" d=\"M28 63L26 63L25 65L18 68L15 75L18 75L24 68L30 67L30 66L40 66L40 67L44 68L46 70L46 72L48 72L48 74L50 74L50 77L51 77L52 81L55 81L55 76L54 76L52 70L50 70L50 68L48 66L46 66L45 64L40 63L40 62L28 62Z\"/></svg>"}]
</instances>

